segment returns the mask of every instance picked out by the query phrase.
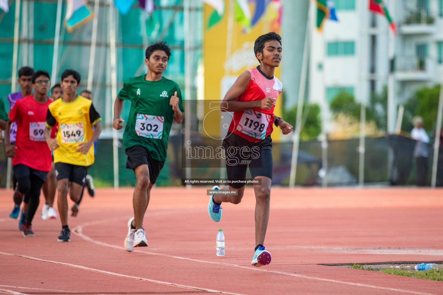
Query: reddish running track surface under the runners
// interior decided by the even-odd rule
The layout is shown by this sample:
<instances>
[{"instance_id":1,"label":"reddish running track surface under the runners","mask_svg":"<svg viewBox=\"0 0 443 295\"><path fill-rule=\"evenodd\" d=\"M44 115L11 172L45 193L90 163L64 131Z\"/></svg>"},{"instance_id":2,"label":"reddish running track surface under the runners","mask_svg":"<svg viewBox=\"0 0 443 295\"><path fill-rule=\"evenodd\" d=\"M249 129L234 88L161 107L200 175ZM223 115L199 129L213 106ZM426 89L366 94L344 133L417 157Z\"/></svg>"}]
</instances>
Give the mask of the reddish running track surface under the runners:
<instances>
[{"instance_id":1,"label":"reddish running track surface under the runners","mask_svg":"<svg viewBox=\"0 0 443 295\"><path fill-rule=\"evenodd\" d=\"M272 188L272 263L261 268L250 265L253 190L223 203L216 223L206 189L153 188L149 247L132 253L132 188L85 195L70 243L57 242L60 220L43 221L41 206L36 237L24 238L8 218L12 191L0 190L0 294L443 294L443 282L318 265L443 260L441 189ZM218 228L225 257L215 255Z\"/></svg>"}]
</instances>

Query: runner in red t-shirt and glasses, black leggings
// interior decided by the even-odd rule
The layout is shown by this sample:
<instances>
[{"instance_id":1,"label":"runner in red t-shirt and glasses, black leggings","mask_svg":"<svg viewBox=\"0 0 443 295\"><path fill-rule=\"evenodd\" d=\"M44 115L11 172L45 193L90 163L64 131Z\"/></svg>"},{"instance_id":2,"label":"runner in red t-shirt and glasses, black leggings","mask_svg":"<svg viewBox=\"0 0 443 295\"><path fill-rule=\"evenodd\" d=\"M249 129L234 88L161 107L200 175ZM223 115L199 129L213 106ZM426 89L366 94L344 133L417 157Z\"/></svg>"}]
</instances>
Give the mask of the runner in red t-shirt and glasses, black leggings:
<instances>
[{"instance_id":1,"label":"runner in red t-shirt and glasses, black leggings","mask_svg":"<svg viewBox=\"0 0 443 295\"><path fill-rule=\"evenodd\" d=\"M43 182L51 171L51 151L43 136L48 106L52 102L47 96L50 83L48 72L35 72L32 76L35 92L17 100L9 112L10 122L17 122L17 136L15 149L8 149L8 157L12 157L12 169L17 177L19 194L29 197L27 218L22 229L25 237L35 236L31 222L39 207Z\"/></svg>"}]
</instances>

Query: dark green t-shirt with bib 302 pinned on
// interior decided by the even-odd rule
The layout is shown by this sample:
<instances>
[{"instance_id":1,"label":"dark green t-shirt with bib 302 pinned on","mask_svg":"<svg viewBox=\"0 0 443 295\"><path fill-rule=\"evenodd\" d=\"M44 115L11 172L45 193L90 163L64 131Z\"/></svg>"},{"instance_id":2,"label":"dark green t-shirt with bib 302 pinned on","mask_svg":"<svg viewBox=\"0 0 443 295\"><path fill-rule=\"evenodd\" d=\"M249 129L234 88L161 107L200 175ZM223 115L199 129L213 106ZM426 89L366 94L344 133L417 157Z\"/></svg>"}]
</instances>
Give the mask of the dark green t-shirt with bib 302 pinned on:
<instances>
[{"instance_id":1,"label":"dark green t-shirt with bib 302 pinned on","mask_svg":"<svg viewBox=\"0 0 443 295\"><path fill-rule=\"evenodd\" d=\"M159 81L147 81L144 75L124 81L118 97L131 101L123 134L125 149L141 145L148 149L153 159L166 160L167 140L174 120L174 111L169 101L175 91L179 97L180 111L184 111L182 94L174 81L165 77Z\"/></svg>"}]
</instances>

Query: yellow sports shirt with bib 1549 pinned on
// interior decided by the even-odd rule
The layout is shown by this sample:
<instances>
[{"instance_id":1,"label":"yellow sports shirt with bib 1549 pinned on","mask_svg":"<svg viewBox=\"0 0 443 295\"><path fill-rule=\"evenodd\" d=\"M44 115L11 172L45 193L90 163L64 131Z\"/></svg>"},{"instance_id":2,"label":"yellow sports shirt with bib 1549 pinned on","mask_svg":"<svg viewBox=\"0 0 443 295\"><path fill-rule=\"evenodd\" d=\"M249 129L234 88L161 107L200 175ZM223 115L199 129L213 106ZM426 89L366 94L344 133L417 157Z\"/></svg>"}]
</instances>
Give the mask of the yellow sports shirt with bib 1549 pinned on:
<instances>
[{"instance_id":1,"label":"yellow sports shirt with bib 1549 pinned on","mask_svg":"<svg viewBox=\"0 0 443 295\"><path fill-rule=\"evenodd\" d=\"M93 134L92 126L96 122L89 119L91 100L83 96L70 102L63 102L62 98L49 105L49 111L58 122L56 140L59 147L54 150L54 163L62 162L78 166L89 166L94 163L94 145L87 154L77 152L78 145L88 142Z\"/></svg>"}]
</instances>

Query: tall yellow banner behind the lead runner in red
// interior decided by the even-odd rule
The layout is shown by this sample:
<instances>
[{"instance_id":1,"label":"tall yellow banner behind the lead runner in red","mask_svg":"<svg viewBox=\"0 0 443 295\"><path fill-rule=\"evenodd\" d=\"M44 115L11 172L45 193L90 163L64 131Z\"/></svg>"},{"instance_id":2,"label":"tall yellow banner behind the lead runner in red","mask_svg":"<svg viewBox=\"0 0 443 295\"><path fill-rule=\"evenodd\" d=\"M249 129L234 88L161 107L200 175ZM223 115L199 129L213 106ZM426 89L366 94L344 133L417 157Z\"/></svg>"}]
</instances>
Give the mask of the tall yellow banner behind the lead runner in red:
<instances>
[{"instance_id":1,"label":"tall yellow banner behind the lead runner in red","mask_svg":"<svg viewBox=\"0 0 443 295\"><path fill-rule=\"evenodd\" d=\"M222 19L209 29L207 28L210 15L214 8L204 4L204 98L205 100L222 100L225 93L232 86L238 76L244 71L260 65L254 55L254 42L262 34L270 31L280 33L280 1L272 0L262 15L260 21L250 29L245 29L235 21L234 8L229 3L234 1L225 0L225 13ZM249 4L251 15L255 11L255 4ZM278 78L280 69L276 68L274 75ZM281 96L280 96L281 97ZM215 103L204 103L204 113L211 112ZM274 114L281 117L282 101L276 102ZM215 114L215 113L214 113ZM224 114L224 115L223 115ZM223 118L221 118L223 117ZM203 135L220 138L227 131L230 123L228 113L211 116L211 124L205 124ZM272 141L280 141L281 131L274 126Z\"/></svg>"}]
</instances>

